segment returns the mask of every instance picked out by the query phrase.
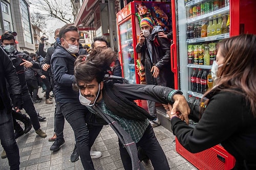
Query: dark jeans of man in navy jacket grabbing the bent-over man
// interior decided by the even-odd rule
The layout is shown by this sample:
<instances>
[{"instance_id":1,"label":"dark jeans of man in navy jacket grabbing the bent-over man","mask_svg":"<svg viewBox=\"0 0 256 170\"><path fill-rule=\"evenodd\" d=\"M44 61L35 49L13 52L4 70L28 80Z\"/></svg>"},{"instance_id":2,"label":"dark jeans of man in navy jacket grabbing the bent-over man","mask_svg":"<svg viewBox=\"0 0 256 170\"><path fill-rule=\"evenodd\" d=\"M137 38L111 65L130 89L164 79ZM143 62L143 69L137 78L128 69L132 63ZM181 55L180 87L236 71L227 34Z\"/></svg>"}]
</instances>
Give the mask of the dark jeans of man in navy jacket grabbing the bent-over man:
<instances>
[{"instance_id":1,"label":"dark jeans of man in navy jacket grabbing the bent-over man","mask_svg":"<svg viewBox=\"0 0 256 170\"><path fill-rule=\"evenodd\" d=\"M103 126L87 125L86 116L89 114L89 111L86 106L80 103L65 103L59 104L59 106L61 113L75 133L77 150L83 168L87 170L94 169L90 150Z\"/></svg>"}]
</instances>

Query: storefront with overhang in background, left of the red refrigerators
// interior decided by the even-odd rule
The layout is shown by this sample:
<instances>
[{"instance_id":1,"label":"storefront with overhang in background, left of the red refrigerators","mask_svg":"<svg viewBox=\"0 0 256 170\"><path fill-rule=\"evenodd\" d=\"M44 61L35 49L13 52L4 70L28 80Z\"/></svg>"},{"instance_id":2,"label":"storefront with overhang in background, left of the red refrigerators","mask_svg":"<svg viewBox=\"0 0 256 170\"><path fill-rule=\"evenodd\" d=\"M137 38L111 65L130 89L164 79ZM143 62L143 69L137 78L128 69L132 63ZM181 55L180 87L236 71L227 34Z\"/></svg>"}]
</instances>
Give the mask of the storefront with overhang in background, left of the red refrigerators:
<instances>
[{"instance_id":1,"label":"storefront with overhang in background, left of the red refrigerators","mask_svg":"<svg viewBox=\"0 0 256 170\"><path fill-rule=\"evenodd\" d=\"M78 27L81 43L91 46L93 37L104 36L117 51L116 1L83 1L74 26Z\"/></svg>"}]
</instances>

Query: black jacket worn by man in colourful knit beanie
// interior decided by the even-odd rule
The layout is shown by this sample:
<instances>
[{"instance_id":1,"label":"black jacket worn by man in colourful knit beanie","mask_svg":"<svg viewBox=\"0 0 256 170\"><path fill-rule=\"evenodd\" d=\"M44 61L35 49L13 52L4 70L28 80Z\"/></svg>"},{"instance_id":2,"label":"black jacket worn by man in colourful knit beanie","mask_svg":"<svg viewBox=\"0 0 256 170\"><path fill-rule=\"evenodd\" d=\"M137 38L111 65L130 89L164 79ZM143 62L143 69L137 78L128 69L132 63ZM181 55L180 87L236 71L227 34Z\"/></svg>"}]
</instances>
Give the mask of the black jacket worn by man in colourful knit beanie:
<instances>
[{"instance_id":1,"label":"black jacket worn by man in colourful knit beanie","mask_svg":"<svg viewBox=\"0 0 256 170\"><path fill-rule=\"evenodd\" d=\"M135 49L137 53L141 53L141 63L145 68L146 83L174 88L174 73L170 67L170 41L166 38L158 37L159 32L163 32L163 30L160 26L156 26L143 45L140 46L138 43ZM149 44L152 46L152 59L148 51ZM156 79L153 78L151 72L151 68L154 65L160 70Z\"/></svg>"}]
</instances>

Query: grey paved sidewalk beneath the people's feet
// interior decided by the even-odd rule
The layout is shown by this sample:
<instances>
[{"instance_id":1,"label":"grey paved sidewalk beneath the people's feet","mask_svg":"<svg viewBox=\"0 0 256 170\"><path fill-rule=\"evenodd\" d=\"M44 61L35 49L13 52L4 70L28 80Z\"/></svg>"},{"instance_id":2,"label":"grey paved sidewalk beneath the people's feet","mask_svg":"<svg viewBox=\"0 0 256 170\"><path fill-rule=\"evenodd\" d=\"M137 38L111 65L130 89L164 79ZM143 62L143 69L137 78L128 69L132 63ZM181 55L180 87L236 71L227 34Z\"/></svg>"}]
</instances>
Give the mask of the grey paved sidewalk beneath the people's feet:
<instances>
[{"instance_id":1,"label":"grey paved sidewalk beneath the people's feet","mask_svg":"<svg viewBox=\"0 0 256 170\"><path fill-rule=\"evenodd\" d=\"M41 129L47 133L46 138L39 137L32 128L29 133L24 134L16 139L20 154L20 170L58 170L58 169L83 169L81 161L70 161L70 155L74 149L74 132L68 122L65 122L64 138L65 144L57 152L50 151L53 142L48 139L54 134L54 107L55 104L45 104L44 94L39 96L43 98L41 103L34 104L37 112L41 116L46 117L46 121L40 122ZM53 103L55 103L53 101ZM24 110L22 110L25 113ZM20 123L24 128L24 125ZM181 155L179 155L175 146L172 145L175 136L161 125L154 128L156 137L161 144L163 151L167 157L170 169L174 170L193 170L197 169ZM118 138L115 132L109 126L104 126L99 136L95 140L92 150L102 152L102 156L93 159L96 170L113 170L124 169L118 149ZM0 153L3 148L0 147ZM8 159L0 158L0 169L9 169ZM154 169L151 164L147 164L147 170ZM161 170L161 167L159 167Z\"/></svg>"}]
</instances>

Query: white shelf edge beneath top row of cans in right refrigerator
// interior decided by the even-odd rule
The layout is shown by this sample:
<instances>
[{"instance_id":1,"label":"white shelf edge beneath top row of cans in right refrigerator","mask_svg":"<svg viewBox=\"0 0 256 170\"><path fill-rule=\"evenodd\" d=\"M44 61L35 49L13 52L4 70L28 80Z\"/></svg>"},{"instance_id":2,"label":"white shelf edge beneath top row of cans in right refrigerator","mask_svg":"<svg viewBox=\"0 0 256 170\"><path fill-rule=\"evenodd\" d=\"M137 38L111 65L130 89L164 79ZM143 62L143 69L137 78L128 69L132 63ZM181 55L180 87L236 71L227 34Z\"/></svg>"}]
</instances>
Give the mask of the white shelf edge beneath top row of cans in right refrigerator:
<instances>
[{"instance_id":1,"label":"white shelf edge beneath top row of cans in right refrigerator","mask_svg":"<svg viewBox=\"0 0 256 170\"><path fill-rule=\"evenodd\" d=\"M219 10L210 12L208 14L204 14L204 15L200 15L200 16L196 16L194 18L188 18L186 19L186 23L192 23L192 22L196 22L196 21L202 21L202 20L208 20L209 16L213 16L213 15L219 15L219 14L225 14L229 12L229 7L224 7L221 8Z\"/></svg>"}]
</instances>

